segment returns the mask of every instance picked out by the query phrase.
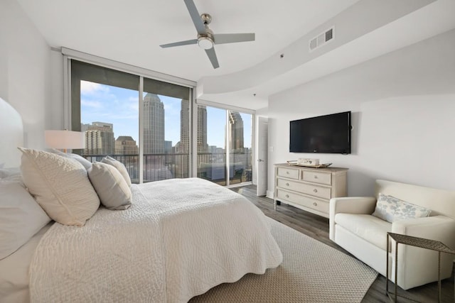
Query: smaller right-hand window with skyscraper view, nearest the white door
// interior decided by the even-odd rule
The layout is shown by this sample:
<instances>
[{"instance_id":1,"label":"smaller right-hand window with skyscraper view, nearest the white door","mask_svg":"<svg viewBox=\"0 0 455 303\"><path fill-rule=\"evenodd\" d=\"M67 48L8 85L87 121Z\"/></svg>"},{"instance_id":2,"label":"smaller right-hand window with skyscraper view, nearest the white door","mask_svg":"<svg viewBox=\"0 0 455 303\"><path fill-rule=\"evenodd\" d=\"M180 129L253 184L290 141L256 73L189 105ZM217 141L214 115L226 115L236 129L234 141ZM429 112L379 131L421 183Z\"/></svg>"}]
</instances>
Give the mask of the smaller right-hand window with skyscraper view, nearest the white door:
<instances>
[{"instance_id":1,"label":"smaller right-hand window with skyscraper view, nearest the white door","mask_svg":"<svg viewBox=\"0 0 455 303\"><path fill-rule=\"evenodd\" d=\"M198 177L220 185L252 181L251 122L251 114L198 106Z\"/></svg>"}]
</instances>

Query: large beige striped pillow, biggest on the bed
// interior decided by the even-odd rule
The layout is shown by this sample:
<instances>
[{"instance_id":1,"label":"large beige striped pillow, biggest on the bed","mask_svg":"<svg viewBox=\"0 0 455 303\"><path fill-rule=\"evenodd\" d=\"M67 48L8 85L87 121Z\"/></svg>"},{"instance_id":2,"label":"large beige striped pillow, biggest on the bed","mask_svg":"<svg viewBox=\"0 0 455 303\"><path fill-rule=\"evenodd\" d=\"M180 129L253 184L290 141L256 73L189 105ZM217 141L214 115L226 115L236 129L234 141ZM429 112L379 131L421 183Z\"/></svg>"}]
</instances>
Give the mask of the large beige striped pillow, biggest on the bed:
<instances>
[{"instance_id":1,"label":"large beige striped pillow, biggest on the bed","mask_svg":"<svg viewBox=\"0 0 455 303\"><path fill-rule=\"evenodd\" d=\"M58 223L83 226L100 206L85 167L42 150L19 150L23 182L36 202Z\"/></svg>"}]
</instances>

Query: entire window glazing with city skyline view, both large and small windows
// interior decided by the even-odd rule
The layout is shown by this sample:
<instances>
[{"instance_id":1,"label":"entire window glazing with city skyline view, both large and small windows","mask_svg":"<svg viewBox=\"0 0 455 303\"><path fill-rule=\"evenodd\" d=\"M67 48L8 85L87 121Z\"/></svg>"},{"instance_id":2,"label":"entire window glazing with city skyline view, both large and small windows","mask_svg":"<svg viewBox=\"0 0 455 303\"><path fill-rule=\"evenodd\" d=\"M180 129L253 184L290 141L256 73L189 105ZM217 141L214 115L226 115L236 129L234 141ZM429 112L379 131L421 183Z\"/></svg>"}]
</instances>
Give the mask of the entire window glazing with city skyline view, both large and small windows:
<instances>
[{"instance_id":1,"label":"entire window glazing with city skyline view, both large and small windows","mask_svg":"<svg viewBox=\"0 0 455 303\"><path fill-rule=\"evenodd\" d=\"M252 181L251 114L199 104L193 115L188 87L76 60L71 99L72 128L85 132L82 156L122 162L134 183L191 177L193 144L197 177L220 185Z\"/></svg>"}]
</instances>

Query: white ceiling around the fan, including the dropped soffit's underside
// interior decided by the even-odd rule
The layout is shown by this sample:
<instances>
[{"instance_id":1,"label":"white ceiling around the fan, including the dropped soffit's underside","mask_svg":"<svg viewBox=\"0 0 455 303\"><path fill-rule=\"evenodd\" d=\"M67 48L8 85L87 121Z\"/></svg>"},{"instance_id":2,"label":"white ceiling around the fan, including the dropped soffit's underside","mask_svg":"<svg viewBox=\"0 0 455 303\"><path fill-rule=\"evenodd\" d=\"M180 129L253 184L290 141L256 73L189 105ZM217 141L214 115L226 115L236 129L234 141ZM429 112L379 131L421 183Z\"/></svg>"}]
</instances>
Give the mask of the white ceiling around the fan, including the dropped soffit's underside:
<instances>
[{"instance_id":1,"label":"white ceiling around the fan, including the dropped soffit's underside","mask_svg":"<svg viewBox=\"0 0 455 303\"><path fill-rule=\"evenodd\" d=\"M194 0L199 13L210 13L212 16L210 28L214 33L256 33L254 42L215 45L220 68L214 70L205 52L197 45L166 49L159 47L161 44L196 38L196 29L183 0L17 1L51 47L71 48L200 83L203 83L204 79L208 79L205 83L215 83L217 79L225 81L230 77L238 79L245 70L267 72L269 65L267 60L277 53L289 50L291 43L311 33L321 24L336 18L353 4L380 2ZM381 1L390 4L398 0ZM432 0L400 1L426 4ZM223 94L206 94L204 89L208 87L198 87L200 91L198 96L208 101L259 109L267 106L270 94L282 89L455 28L454 0L438 0L419 11L423 13L400 18L404 20L401 22L403 24L397 25L396 22L387 26L383 24L382 31L370 31L372 36L387 37L387 34L390 34L392 37L385 40L383 44L386 47L382 44L380 51L377 47L368 47L371 46L371 40L368 40L367 35L362 35L357 41L353 41L357 43L355 45L357 49L359 47L363 49L361 56L358 56L358 52L346 51L344 45L343 48L337 47L309 62L296 62L294 68L276 70L264 81L257 81L242 89L234 89ZM364 22L363 16L358 18L359 24ZM412 31L412 38L401 38L409 37L410 29L419 28L422 23L423 33ZM390 47L387 47L389 44ZM336 61L345 63L335 67L330 65L332 67L327 68L328 65L324 65L323 58L327 57L327 62L330 62L333 57L337 57L337 52L340 52L342 57L338 57ZM256 68L257 66L260 68ZM302 77L304 76L302 73L306 73L306 77ZM295 80L296 76L300 77L299 81ZM253 94L256 94L256 97Z\"/></svg>"}]
</instances>

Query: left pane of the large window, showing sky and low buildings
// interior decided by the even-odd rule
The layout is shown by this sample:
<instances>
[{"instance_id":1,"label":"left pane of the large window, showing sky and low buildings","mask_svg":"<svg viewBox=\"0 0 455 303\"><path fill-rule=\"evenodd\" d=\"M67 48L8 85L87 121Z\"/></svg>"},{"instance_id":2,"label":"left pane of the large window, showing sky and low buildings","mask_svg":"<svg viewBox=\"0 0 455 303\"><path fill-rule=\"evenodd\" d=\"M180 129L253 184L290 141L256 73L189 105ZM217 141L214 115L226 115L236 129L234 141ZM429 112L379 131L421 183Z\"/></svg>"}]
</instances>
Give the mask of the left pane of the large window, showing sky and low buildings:
<instances>
[{"instance_id":1,"label":"left pane of the large window, showing sky and low buildings","mask_svg":"<svg viewBox=\"0 0 455 303\"><path fill-rule=\"evenodd\" d=\"M132 89L80 82L82 156L90 162L110 157L122 162L132 182L139 182L139 94Z\"/></svg>"}]
</instances>

